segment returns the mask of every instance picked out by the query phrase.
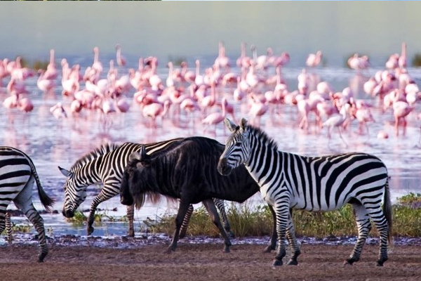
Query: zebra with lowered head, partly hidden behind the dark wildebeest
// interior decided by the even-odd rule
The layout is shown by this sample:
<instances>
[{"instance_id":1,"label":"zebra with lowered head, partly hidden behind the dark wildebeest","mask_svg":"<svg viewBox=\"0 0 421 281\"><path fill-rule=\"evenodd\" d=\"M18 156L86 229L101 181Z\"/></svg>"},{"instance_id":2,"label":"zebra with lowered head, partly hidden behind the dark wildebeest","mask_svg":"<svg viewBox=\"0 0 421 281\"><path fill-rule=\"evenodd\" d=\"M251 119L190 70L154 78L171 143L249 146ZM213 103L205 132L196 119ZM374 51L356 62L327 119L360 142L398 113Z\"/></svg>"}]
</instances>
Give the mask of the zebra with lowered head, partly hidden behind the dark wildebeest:
<instances>
[{"instance_id":1,"label":"zebra with lowered head, partly hidden behind the dark wildebeest","mask_svg":"<svg viewBox=\"0 0 421 281\"><path fill-rule=\"evenodd\" d=\"M162 152L171 145L182 141L183 138L173 138L168 141L145 144L145 150L148 155ZM94 231L93 221L95 211L98 205L110 198L119 195L121 177L124 168L132 152L140 151L142 144L138 143L107 143L88 152L83 157L76 160L70 170L58 166L60 172L67 177L64 185L65 202L62 208L62 214L66 218L72 218L79 205L86 199L86 188L95 183L103 183L100 193L95 196L91 203L91 209L87 218L86 232L91 235ZM230 236L233 236L231 227L227 220L225 204L223 200L214 199L215 205L220 210L224 228ZM184 237L189 218L192 215L193 206L190 206L180 230L180 237ZM133 228L134 209L133 206L127 207L128 217L128 236L135 236Z\"/></svg>"}]
</instances>

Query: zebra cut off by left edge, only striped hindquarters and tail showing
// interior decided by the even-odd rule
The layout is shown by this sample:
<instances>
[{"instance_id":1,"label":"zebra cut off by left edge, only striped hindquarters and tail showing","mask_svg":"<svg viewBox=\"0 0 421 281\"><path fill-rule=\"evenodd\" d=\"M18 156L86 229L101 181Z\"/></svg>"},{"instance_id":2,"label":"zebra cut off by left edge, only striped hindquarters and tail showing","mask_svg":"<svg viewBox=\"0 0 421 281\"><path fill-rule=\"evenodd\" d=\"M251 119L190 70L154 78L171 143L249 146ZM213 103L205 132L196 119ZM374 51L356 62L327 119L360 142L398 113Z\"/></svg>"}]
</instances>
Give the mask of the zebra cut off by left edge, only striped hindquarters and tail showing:
<instances>
[{"instance_id":1,"label":"zebra cut off by left edge, only striped hindquarters and tail showing","mask_svg":"<svg viewBox=\"0 0 421 281\"><path fill-rule=\"evenodd\" d=\"M39 239L38 261L44 261L48 254L44 220L32 204L32 186L36 181L39 198L47 211L53 206L52 200L39 181L34 163L24 152L8 146L0 147L0 233L6 228L8 240L11 240L10 218L6 218L6 208L13 201L29 221L34 225ZM8 216L8 215L7 215ZM6 222L5 222L6 221Z\"/></svg>"}]
</instances>

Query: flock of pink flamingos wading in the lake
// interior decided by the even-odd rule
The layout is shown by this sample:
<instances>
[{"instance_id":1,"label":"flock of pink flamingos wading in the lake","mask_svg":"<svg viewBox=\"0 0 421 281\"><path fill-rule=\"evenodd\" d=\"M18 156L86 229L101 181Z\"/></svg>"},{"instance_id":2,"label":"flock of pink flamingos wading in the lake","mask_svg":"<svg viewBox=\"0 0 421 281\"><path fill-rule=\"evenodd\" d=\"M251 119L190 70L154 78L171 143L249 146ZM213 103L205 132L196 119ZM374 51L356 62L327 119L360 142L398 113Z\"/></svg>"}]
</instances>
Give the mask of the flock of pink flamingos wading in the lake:
<instances>
[{"instance_id":1,"label":"flock of pink flamingos wading in the lake","mask_svg":"<svg viewBox=\"0 0 421 281\"><path fill-rule=\"evenodd\" d=\"M309 126L317 130L327 127L329 138L333 128L338 128L342 138L340 132L354 119L359 122L359 133L368 133L367 122L375 119L373 107L380 107L382 114L393 115L396 136L400 131L405 133L406 118L411 112L415 119L421 119L415 110L421 92L407 71L405 43L400 54L389 56L384 70L377 71L363 84L363 91L370 97L367 99L354 97L349 87L335 91L328 81L314 75L323 58L321 51L308 55L307 67L298 75L296 88L288 89L282 73L290 61L288 53L274 55L272 48L267 48L265 55L258 55L255 46L250 49L251 57L246 53L246 44L241 44L241 55L233 61L220 42L218 57L211 67L201 70L200 60L196 60L195 70L186 62L180 67L169 62L165 77L157 72L156 57L139 58L138 69L127 70L119 44L116 65L111 60L108 70L100 61L98 47L93 48L92 65L84 71L80 65L69 65L65 58L58 65L54 50L50 51L46 70L37 72L22 67L20 57L4 58L0 60L0 94L6 97L3 105L8 110L31 112L34 105L32 94L27 91L27 79L37 75L36 86L45 97L55 96L56 89L62 90L63 102L50 109L57 119L91 111L98 112L104 121L135 106L152 128L159 126L159 118L184 117L199 118L205 130L213 129L225 117L236 121L239 108L246 112L252 124L260 126L262 115L279 116L283 108L293 107L295 110L291 112L296 112L296 122L302 130L309 130ZM370 67L368 57L358 54L347 63L356 72ZM368 100L375 100L375 105ZM379 131L377 137L388 135Z\"/></svg>"}]
</instances>

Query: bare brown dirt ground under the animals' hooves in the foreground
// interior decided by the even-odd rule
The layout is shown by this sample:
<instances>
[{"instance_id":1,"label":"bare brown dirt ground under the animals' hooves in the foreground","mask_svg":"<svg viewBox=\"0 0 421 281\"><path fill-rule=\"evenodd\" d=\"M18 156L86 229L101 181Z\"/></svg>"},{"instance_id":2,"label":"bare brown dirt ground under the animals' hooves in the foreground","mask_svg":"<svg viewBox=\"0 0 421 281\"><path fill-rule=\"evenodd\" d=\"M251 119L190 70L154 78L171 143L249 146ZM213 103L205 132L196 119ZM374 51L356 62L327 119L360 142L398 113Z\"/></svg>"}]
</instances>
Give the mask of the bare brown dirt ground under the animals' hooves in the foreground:
<instances>
[{"instance_id":1,"label":"bare brown dirt ground under the animals' hooves in the foreground","mask_svg":"<svg viewBox=\"0 0 421 281\"><path fill-rule=\"evenodd\" d=\"M262 244L180 241L130 249L49 243L44 263L36 262L37 244L0 247L0 280L420 280L421 247L395 245L384 267L376 267L377 245L366 244L361 261L343 266L352 245L302 244L298 266L272 268L274 254Z\"/></svg>"}]
</instances>

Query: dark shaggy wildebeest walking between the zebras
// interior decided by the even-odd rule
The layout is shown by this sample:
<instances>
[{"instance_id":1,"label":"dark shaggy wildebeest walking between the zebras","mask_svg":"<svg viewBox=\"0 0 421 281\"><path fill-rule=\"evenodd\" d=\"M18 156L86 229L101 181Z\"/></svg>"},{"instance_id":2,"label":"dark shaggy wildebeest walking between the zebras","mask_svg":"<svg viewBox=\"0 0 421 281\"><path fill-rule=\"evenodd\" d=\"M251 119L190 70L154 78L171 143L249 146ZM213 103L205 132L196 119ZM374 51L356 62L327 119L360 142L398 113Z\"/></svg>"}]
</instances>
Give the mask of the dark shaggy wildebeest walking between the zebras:
<instances>
[{"instance_id":1,"label":"dark shaggy wildebeest walking between the zebras","mask_svg":"<svg viewBox=\"0 0 421 281\"><path fill-rule=\"evenodd\" d=\"M165 195L179 198L180 207L175 218L173 241L167 252L175 251L182 220L189 204L203 202L210 217L225 240L225 251L231 242L220 224L212 198L244 202L259 191L258 184L244 167L229 176L218 173L217 166L225 145L210 138L185 138L159 155L147 155L144 149L133 152L121 179L121 203L140 208L145 195ZM271 209L272 210L272 209ZM272 214L274 214L272 212ZM271 244L276 243L272 234Z\"/></svg>"}]
</instances>

